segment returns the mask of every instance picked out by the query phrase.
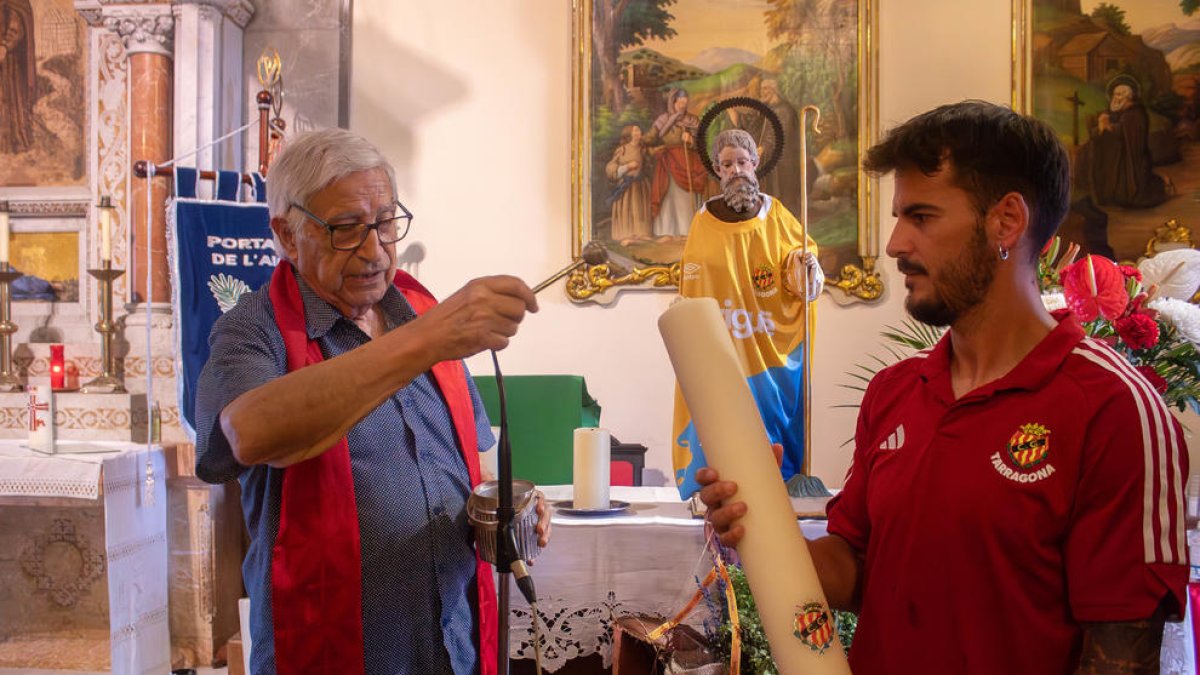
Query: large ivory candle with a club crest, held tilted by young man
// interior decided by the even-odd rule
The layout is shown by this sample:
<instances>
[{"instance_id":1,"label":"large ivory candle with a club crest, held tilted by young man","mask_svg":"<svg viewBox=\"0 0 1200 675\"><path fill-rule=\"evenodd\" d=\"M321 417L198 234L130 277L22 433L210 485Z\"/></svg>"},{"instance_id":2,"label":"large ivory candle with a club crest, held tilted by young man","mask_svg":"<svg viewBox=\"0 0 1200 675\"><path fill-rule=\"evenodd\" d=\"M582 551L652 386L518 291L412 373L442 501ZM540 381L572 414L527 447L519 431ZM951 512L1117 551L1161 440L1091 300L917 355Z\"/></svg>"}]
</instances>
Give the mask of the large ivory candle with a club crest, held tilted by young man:
<instances>
[{"instance_id":1,"label":"large ivory candle with a club crest, held tilted by young man","mask_svg":"<svg viewBox=\"0 0 1200 675\"><path fill-rule=\"evenodd\" d=\"M733 501L748 507L738 555L780 673L848 675L812 557L716 300L677 301L659 317L659 330L704 458L722 479L738 484Z\"/></svg>"}]
</instances>

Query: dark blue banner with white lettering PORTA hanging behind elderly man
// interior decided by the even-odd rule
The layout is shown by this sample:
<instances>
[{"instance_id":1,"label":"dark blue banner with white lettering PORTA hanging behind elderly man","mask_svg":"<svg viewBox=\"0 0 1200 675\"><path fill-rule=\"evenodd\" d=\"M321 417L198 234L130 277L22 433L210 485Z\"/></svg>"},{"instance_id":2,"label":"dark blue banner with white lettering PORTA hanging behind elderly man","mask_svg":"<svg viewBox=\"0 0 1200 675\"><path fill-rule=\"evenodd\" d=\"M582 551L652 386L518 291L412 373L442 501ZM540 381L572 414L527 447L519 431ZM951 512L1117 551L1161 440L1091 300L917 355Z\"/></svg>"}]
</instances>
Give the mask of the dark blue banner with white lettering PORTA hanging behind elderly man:
<instances>
[{"instance_id":1,"label":"dark blue banner with white lettering PORTA hanging behind elderly man","mask_svg":"<svg viewBox=\"0 0 1200 675\"><path fill-rule=\"evenodd\" d=\"M196 386L209 359L212 324L242 293L270 280L278 256L265 203L190 198L194 191L188 186L194 183L187 178L176 178L179 192L188 197L174 199L170 222L175 244L179 410L185 428L193 432ZM259 199L265 198L264 190L257 192Z\"/></svg>"}]
</instances>

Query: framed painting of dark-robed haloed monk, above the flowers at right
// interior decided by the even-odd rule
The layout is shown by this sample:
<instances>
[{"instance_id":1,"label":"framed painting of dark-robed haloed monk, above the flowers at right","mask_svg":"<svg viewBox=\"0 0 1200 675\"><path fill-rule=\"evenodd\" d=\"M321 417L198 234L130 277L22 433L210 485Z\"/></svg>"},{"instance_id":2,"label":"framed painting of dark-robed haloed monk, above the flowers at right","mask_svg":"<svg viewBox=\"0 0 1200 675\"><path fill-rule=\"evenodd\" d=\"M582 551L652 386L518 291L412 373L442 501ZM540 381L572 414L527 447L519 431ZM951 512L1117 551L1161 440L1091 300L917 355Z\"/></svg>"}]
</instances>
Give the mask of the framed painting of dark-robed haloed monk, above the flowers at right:
<instances>
[{"instance_id":1,"label":"framed painting of dark-robed haloed monk, above the flowers at right","mask_svg":"<svg viewBox=\"0 0 1200 675\"><path fill-rule=\"evenodd\" d=\"M1200 223L1200 14L1181 0L1014 0L1013 107L1072 161L1060 234L1136 261Z\"/></svg>"}]
</instances>

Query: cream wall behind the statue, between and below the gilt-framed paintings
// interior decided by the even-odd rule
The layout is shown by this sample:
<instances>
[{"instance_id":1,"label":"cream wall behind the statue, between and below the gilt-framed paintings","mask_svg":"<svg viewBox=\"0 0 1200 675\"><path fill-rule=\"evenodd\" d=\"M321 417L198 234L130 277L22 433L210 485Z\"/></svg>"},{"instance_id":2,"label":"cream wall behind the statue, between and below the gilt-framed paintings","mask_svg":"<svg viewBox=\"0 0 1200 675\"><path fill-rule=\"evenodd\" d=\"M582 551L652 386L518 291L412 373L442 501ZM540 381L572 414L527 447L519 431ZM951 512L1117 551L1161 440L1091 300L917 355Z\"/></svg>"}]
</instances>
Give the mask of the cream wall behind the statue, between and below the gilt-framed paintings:
<instances>
[{"instance_id":1,"label":"cream wall behind the statue, between and below the gilt-framed paintings","mask_svg":"<svg viewBox=\"0 0 1200 675\"><path fill-rule=\"evenodd\" d=\"M1010 100L1010 0L883 0L880 124L938 103ZM424 283L445 297L467 279L514 274L530 285L570 256L571 2L355 0L350 127L378 143L415 214ZM970 29L965 29L970 26ZM890 232L884 180L881 240ZM413 255L415 251L408 251ZM404 257L404 251L402 251ZM880 304L818 312L814 363L814 473L840 485L857 402L839 387L878 331L904 317L895 265L881 261ZM580 374L601 422L650 448L670 476L673 376L655 319L672 294L625 292L608 307L575 305L562 285L539 297L512 345L506 374ZM476 357L474 372L491 372Z\"/></svg>"}]
</instances>

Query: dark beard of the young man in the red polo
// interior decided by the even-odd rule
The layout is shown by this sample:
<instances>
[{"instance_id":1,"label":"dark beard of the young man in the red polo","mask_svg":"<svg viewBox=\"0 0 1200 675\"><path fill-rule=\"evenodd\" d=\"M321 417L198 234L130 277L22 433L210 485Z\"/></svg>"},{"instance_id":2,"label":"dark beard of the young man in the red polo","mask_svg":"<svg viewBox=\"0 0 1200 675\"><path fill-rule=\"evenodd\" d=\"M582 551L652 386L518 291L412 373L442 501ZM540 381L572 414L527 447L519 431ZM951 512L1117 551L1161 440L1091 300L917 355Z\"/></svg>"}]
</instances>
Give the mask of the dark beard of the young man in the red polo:
<instances>
[{"instance_id":1,"label":"dark beard of the young man in the red polo","mask_svg":"<svg viewBox=\"0 0 1200 675\"><path fill-rule=\"evenodd\" d=\"M988 233L980 219L976 221L974 233L964 253L948 263L936 277L930 276L934 297L918 301L910 294L905 298L904 306L922 323L953 325L983 301L992 280L996 279L997 264L1000 258L988 245ZM904 258L898 259L896 265L901 271L905 269L926 271Z\"/></svg>"}]
</instances>

